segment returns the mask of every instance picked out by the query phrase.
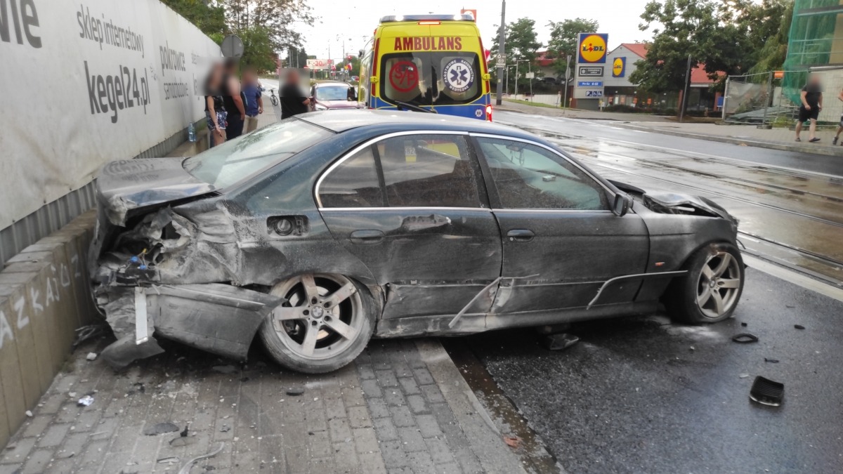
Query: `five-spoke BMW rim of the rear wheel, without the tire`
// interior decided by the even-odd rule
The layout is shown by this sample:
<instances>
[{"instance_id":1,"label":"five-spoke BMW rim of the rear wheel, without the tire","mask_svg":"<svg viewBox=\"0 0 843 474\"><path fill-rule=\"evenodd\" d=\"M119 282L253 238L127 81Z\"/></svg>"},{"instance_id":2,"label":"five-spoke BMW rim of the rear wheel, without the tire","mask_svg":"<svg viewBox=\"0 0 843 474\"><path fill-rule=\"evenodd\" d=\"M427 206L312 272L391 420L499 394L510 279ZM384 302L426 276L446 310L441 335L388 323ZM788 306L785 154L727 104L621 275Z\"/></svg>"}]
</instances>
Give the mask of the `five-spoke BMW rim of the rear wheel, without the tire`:
<instances>
[{"instance_id":1,"label":"five-spoke BMW rim of the rear wheel, without the tire","mask_svg":"<svg viewBox=\"0 0 843 474\"><path fill-rule=\"evenodd\" d=\"M354 341L360 331L360 304L354 283L344 277L303 275L294 282L280 283L272 294L283 296L290 305L272 312L272 323L282 342L305 358L324 358L336 354ZM336 288L330 288L333 283ZM351 299L351 304L344 304ZM301 332L303 331L303 337ZM332 337L323 347L320 341Z\"/></svg>"}]
</instances>

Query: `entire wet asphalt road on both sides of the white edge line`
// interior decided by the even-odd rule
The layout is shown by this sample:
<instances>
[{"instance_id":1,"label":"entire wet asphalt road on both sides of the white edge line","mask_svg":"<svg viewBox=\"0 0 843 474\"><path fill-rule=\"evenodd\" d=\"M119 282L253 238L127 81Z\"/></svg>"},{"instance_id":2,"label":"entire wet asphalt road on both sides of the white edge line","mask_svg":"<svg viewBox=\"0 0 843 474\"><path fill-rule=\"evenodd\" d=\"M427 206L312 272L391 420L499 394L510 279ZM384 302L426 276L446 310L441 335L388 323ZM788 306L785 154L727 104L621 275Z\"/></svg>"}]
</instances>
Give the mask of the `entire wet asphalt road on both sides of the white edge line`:
<instances>
[{"instance_id":1,"label":"entire wet asphalt road on both sides of the white edge line","mask_svg":"<svg viewBox=\"0 0 843 474\"><path fill-rule=\"evenodd\" d=\"M607 177L709 195L760 239L834 258L843 250L840 159L599 121L496 118L552 132ZM800 255L794 266L809 272ZM826 275L840 272L834 266ZM843 472L841 317L840 300L750 268L734 318L717 325L674 325L666 315L578 323L568 332L581 342L562 352L546 350L534 330L466 342L568 472L832 473ZM731 340L744 331L760 341ZM785 384L781 407L749 401L756 375Z\"/></svg>"}]
</instances>

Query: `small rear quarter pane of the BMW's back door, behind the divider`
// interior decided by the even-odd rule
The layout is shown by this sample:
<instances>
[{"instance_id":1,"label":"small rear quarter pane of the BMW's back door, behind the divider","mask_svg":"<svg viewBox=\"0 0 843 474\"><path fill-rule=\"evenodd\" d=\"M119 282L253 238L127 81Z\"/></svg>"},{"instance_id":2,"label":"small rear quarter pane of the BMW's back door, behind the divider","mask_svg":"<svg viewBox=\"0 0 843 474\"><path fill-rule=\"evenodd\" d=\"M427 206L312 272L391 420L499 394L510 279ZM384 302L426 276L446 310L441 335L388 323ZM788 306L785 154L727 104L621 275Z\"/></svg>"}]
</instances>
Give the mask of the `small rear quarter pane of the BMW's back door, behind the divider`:
<instances>
[{"instance_id":1,"label":"small rear quarter pane of the BMW's back door, behind the divider","mask_svg":"<svg viewBox=\"0 0 843 474\"><path fill-rule=\"evenodd\" d=\"M339 164L319 185L322 207L383 207L384 195L372 148Z\"/></svg>"}]
</instances>

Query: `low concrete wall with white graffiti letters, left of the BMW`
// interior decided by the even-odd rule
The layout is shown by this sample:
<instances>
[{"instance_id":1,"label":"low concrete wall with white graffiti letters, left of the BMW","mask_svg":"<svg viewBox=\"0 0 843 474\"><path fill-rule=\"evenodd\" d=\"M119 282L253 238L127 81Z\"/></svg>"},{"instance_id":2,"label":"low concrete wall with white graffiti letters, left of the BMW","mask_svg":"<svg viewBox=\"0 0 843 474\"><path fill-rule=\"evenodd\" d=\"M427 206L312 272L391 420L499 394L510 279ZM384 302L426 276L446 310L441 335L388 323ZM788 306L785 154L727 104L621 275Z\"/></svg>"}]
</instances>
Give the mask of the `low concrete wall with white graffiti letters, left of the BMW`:
<instances>
[{"instance_id":1,"label":"low concrete wall with white graffiti letters, left of the BMW","mask_svg":"<svg viewBox=\"0 0 843 474\"><path fill-rule=\"evenodd\" d=\"M0 446L62 369L96 312L85 271L94 211L25 247L0 272Z\"/></svg>"}]
</instances>

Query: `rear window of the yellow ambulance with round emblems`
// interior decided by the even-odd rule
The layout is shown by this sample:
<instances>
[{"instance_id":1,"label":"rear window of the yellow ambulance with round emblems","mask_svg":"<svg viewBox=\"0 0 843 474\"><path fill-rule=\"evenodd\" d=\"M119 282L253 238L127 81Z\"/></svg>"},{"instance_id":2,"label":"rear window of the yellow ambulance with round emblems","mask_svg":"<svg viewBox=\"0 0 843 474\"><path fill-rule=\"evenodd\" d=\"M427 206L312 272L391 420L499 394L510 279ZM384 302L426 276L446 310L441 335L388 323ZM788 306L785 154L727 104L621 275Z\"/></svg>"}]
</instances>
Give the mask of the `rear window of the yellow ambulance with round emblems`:
<instances>
[{"instance_id":1,"label":"rear window of the yellow ambulance with round emblems","mask_svg":"<svg viewBox=\"0 0 843 474\"><path fill-rule=\"evenodd\" d=\"M387 54L380 75L381 97L392 103L469 104L482 92L480 58L468 51Z\"/></svg>"}]
</instances>

